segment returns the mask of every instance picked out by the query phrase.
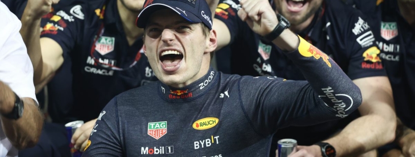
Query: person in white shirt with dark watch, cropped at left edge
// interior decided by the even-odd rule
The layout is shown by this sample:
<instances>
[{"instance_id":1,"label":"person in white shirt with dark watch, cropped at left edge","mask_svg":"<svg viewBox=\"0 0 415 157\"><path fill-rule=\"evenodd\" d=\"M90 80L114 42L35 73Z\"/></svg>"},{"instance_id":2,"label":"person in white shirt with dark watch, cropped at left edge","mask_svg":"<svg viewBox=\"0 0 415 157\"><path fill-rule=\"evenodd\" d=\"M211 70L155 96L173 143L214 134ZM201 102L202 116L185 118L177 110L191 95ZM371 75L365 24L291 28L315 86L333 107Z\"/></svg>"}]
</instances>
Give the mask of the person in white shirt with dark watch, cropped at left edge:
<instances>
[{"instance_id":1,"label":"person in white shirt with dark watch, cropped at left edge","mask_svg":"<svg viewBox=\"0 0 415 157\"><path fill-rule=\"evenodd\" d=\"M0 157L17 157L33 147L43 117L33 86L33 67L19 34L21 22L0 1Z\"/></svg>"}]
</instances>

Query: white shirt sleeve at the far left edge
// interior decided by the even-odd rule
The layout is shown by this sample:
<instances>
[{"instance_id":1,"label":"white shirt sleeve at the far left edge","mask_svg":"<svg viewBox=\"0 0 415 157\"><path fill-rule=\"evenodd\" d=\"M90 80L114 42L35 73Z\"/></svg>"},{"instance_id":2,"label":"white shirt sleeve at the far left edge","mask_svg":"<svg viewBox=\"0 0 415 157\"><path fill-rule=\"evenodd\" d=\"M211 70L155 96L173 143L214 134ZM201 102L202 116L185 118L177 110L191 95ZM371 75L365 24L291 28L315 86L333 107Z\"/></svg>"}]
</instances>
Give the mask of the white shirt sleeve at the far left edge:
<instances>
[{"instance_id":1,"label":"white shirt sleeve at the far left edge","mask_svg":"<svg viewBox=\"0 0 415 157\"><path fill-rule=\"evenodd\" d=\"M22 23L0 1L0 81L19 97L36 101L33 66L19 31Z\"/></svg>"}]
</instances>

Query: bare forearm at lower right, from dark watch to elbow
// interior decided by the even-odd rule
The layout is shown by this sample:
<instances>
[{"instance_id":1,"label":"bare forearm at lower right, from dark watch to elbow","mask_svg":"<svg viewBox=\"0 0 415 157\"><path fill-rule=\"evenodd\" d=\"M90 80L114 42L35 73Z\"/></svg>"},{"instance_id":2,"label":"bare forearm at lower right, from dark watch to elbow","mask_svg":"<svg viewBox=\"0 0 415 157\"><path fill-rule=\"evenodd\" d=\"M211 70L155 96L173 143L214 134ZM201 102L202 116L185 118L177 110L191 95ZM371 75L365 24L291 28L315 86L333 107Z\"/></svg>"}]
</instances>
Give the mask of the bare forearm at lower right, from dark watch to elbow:
<instances>
[{"instance_id":1,"label":"bare forearm at lower right, from dark watch to elbow","mask_svg":"<svg viewBox=\"0 0 415 157\"><path fill-rule=\"evenodd\" d=\"M379 114L363 115L325 142L332 144L337 157L357 157L393 139L393 119Z\"/></svg>"}]
</instances>

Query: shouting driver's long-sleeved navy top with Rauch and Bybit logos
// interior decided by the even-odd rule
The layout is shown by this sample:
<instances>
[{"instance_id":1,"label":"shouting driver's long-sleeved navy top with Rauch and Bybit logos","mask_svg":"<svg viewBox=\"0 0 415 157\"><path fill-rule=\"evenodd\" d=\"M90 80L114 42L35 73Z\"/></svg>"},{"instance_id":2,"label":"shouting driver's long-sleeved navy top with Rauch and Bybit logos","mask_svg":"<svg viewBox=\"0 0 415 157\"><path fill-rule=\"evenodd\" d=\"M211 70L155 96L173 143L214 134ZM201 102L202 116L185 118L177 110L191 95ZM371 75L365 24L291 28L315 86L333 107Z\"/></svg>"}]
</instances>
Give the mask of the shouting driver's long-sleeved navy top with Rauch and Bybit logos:
<instances>
[{"instance_id":1,"label":"shouting driver's long-sleeved navy top with Rauch and Bybit logos","mask_svg":"<svg viewBox=\"0 0 415 157\"><path fill-rule=\"evenodd\" d=\"M277 129L339 119L361 103L347 75L307 49L327 57L309 44L286 55L308 82L210 69L182 88L126 91L101 112L83 157L266 157Z\"/></svg>"}]
</instances>

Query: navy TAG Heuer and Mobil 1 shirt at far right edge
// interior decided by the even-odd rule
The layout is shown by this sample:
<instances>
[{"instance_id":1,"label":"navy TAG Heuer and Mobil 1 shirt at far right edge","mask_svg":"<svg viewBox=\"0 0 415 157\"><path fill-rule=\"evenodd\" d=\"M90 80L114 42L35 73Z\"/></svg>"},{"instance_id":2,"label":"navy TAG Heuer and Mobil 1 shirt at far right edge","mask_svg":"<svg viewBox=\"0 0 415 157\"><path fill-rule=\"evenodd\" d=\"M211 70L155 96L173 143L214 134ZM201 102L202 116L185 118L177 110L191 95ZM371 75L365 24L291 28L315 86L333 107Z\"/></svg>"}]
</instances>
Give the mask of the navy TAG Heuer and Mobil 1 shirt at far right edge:
<instances>
[{"instance_id":1,"label":"navy TAG Heuer and Mobil 1 shirt at far right edge","mask_svg":"<svg viewBox=\"0 0 415 157\"><path fill-rule=\"evenodd\" d=\"M415 129L415 28L402 17L396 0L354 1L371 15L381 60L392 86L396 115ZM376 4L375 4L376 3ZM370 4L370 5L368 5Z\"/></svg>"}]
</instances>

